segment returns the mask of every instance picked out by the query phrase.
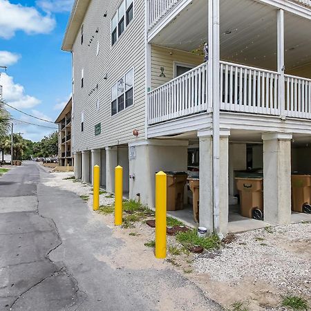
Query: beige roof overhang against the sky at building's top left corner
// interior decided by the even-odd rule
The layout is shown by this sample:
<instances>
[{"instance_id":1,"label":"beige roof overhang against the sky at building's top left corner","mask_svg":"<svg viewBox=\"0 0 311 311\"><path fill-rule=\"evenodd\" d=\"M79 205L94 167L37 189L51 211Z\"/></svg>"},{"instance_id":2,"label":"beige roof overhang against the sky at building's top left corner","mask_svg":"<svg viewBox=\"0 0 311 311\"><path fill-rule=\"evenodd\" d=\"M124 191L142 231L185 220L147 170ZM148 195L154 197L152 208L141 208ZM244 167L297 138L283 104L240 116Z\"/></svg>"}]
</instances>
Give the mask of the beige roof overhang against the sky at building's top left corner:
<instances>
[{"instance_id":1,"label":"beige roof overhang against the sky at building's top left corner","mask_svg":"<svg viewBox=\"0 0 311 311\"><path fill-rule=\"evenodd\" d=\"M75 0L73 3L73 10L68 20L65 36L62 43L62 50L71 52L73 50L73 44L75 43L75 38L82 25L84 15L88 9L88 5L91 0Z\"/></svg>"}]
</instances>

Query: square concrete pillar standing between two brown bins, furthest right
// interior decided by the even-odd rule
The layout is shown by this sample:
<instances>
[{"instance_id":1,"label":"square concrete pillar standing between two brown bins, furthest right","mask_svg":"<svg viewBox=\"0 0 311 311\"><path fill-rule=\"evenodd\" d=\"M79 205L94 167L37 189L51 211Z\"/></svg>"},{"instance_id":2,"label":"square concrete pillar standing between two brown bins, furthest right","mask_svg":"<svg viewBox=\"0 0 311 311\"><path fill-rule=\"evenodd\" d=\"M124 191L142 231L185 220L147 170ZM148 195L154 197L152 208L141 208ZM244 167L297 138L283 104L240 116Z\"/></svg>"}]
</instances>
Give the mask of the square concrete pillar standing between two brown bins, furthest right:
<instances>
[{"instance_id":1,"label":"square concrete pillar standing between two brown bins, furthest right","mask_svg":"<svg viewBox=\"0 0 311 311\"><path fill-rule=\"evenodd\" d=\"M290 223L292 134L263 133L263 217L267 223Z\"/></svg>"}]
</instances>

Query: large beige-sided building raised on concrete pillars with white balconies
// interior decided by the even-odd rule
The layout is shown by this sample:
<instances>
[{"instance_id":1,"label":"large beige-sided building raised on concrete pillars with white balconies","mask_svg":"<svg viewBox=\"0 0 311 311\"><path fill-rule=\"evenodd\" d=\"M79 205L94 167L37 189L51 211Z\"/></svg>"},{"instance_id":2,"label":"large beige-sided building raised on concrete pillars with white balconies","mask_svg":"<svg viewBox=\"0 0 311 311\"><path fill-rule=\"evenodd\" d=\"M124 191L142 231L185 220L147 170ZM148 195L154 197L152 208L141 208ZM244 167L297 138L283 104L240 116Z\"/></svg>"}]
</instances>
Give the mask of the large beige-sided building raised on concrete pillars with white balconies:
<instances>
[{"instance_id":1,"label":"large beige-sided building raised on concrete pillars with white balconies","mask_svg":"<svg viewBox=\"0 0 311 311\"><path fill-rule=\"evenodd\" d=\"M227 233L247 167L263 168L265 222L290 223L291 171L311 171L310 28L310 0L76 0L76 177L100 164L113 191L120 164L153 207L156 171L187 171L196 149L200 225Z\"/></svg>"}]
</instances>

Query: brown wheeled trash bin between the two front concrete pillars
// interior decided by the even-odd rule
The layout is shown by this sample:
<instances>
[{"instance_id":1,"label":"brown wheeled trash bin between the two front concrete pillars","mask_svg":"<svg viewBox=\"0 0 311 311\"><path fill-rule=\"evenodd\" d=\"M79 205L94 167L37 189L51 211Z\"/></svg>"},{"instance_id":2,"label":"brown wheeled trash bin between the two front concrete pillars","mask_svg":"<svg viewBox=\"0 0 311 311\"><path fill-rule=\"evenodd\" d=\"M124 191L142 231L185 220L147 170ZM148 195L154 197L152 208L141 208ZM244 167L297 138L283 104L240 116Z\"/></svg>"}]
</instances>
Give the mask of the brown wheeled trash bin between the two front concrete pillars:
<instances>
[{"instance_id":1,"label":"brown wheeled trash bin between the two front concrete pillars","mask_svg":"<svg viewBox=\"0 0 311 311\"><path fill-rule=\"evenodd\" d=\"M263 178L236 178L241 215L263 220Z\"/></svg>"}]
</instances>

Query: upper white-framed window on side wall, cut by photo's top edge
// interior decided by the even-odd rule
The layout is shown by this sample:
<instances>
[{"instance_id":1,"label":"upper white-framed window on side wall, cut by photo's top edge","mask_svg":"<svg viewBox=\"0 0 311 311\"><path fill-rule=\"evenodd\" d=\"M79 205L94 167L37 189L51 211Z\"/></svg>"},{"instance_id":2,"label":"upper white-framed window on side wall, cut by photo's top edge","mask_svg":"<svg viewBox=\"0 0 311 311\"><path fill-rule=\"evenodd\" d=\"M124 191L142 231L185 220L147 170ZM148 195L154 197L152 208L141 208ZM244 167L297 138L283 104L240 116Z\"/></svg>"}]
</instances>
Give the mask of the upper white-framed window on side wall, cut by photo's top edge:
<instances>
[{"instance_id":1,"label":"upper white-framed window on side wall, cut by photo's top edge","mask_svg":"<svg viewBox=\"0 0 311 311\"><path fill-rule=\"evenodd\" d=\"M111 46L119 39L132 19L133 0L124 0L111 19Z\"/></svg>"}]
</instances>

